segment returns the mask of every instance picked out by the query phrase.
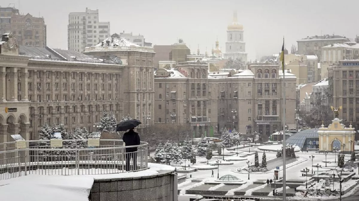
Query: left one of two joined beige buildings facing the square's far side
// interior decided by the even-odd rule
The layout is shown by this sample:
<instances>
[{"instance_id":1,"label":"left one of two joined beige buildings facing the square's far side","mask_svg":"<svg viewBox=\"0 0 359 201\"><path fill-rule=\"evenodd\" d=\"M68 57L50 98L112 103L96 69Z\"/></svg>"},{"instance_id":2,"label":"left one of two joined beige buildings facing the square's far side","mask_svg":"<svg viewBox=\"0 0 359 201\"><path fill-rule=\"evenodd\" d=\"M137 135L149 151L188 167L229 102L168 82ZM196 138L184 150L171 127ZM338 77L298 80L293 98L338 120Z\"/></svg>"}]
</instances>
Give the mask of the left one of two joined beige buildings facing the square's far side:
<instances>
[{"instance_id":1,"label":"left one of two joined beige buildings facing the square's far side","mask_svg":"<svg viewBox=\"0 0 359 201\"><path fill-rule=\"evenodd\" d=\"M155 72L154 122L188 126L194 137L213 136L218 128L218 79L208 75L208 64L200 60L176 67Z\"/></svg>"}]
</instances>

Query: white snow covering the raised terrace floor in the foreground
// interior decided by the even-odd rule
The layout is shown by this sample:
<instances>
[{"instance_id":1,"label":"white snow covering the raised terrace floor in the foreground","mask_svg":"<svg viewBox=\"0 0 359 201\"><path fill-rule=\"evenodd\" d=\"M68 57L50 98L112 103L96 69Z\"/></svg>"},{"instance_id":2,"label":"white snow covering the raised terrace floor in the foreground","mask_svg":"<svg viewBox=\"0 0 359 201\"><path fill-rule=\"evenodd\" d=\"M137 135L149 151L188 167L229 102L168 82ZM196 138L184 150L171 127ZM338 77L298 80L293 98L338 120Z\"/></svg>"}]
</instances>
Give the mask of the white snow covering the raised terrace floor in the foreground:
<instances>
[{"instance_id":1,"label":"white snow covering the raised terrace floor in the foreground","mask_svg":"<svg viewBox=\"0 0 359 201\"><path fill-rule=\"evenodd\" d=\"M174 167L148 163L148 170L104 175L55 175L56 171L42 170L41 174L0 181L1 201L88 201L94 179L129 178L157 175L173 171ZM49 175L53 171L53 175ZM61 170L59 170L61 171ZM81 170L80 170L81 171ZM102 170L105 172L106 170ZM28 171L30 173L30 171ZM40 173L40 171L38 171ZM46 174L46 175L45 175Z\"/></svg>"}]
</instances>

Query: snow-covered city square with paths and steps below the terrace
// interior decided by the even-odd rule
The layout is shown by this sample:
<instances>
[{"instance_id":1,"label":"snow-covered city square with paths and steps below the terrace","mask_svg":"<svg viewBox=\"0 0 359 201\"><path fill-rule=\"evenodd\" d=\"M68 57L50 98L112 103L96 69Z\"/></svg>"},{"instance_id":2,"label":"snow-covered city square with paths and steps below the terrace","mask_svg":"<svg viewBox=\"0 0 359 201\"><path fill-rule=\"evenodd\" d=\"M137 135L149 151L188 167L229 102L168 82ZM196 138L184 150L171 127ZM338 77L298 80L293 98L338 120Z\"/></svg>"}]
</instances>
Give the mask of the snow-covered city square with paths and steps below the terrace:
<instances>
[{"instance_id":1,"label":"snow-covered city square with paths and steps below the terrace","mask_svg":"<svg viewBox=\"0 0 359 201\"><path fill-rule=\"evenodd\" d=\"M229 151L227 149L224 149L224 160L222 155L216 156L216 153L214 152L213 158L208 161L210 165L216 168L213 170L213 176L212 170L210 168L208 168L208 170L205 170L204 168L200 169L201 166L209 166L207 165L207 159L205 157L197 156L196 163L194 165L190 163L190 168L199 168L197 171L190 172L187 174L179 173L179 193L200 194L203 196L265 196L265 198L261 197L261 200L270 200L271 197L272 199L274 198L273 189L276 189L277 195L280 196L283 190L281 186L281 177L283 174L283 159L278 158L280 160L276 160L275 150L281 149L281 144L264 146L258 145L259 144L256 144L256 146L253 147L238 149L238 156L236 150ZM236 148L236 146L232 148ZM270 149L273 151L269 151ZM259 162L261 163L261 158L264 153L264 151L262 150L267 150L265 151L265 153L268 170L266 172L250 172L248 175L248 172L246 171L248 165L247 161L250 162L250 165L254 165L255 155L253 153L257 151L258 158L260 159ZM332 182L333 170L337 167L337 161L335 159L335 156L337 158L338 153L329 152L327 153L327 155L325 155L324 153L318 153L315 151L302 152L299 151L299 148L296 147L294 148L294 150L297 158L287 157L286 160L286 193L287 196L292 197L288 199L317 200L338 198L338 192L340 192L339 180L335 179L334 182ZM233 160L236 158L238 158L239 160ZM350 155L345 155L345 161L349 159ZM188 167L188 162L186 164ZM177 167L177 170L183 170L184 163L181 165L176 164L173 166ZM303 171L303 169L305 170L306 168L308 168L309 171L307 172L308 191L306 198L304 198L304 191L306 190L306 173L305 171ZM358 190L358 187L356 186L359 181L358 168L357 166L353 166L352 168L354 169L352 170L352 172L343 172L342 178L345 178L348 174L351 174L349 176L350 178L342 183L342 193L344 194L343 197L349 196L350 193ZM336 168L336 170L339 172L340 169L341 168L339 167ZM279 180L274 180L275 170L278 170L279 172ZM335 171L336 174L337 171ZM317 182L318 172L320 182ZM218 177L221 178L226 175L231 175L235 178L230 178L230 181L228 181L228 178L227 180L226 178L223 178L223 181L218 180ZM272 180L273 182L267 185L267 179ZM236 180L237 182L234 182L232 180ZM320 190L318 191L317 189ZM330 191L332 191L333 193L330 193Z\"/></svg>"}]
</instances>

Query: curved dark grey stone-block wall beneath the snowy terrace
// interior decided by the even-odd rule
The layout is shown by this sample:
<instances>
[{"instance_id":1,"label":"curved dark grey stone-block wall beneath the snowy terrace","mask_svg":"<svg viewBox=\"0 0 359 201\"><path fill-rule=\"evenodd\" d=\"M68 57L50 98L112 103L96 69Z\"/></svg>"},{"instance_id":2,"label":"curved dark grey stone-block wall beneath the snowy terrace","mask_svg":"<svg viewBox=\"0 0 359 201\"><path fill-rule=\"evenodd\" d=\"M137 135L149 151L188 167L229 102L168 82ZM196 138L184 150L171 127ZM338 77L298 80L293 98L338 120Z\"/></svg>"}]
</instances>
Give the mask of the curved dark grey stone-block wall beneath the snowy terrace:
<instances>
[{"instance_id":1,"label":"curved dark grey stone-block wall beneath the snowy terrace","mask_svg":"<svg viewBox=\"0 0 359 201\"><path fill-rule=\"evenodd\" d=\"M173 194L175 192L175 194ZM177 201L177 174L94 180L90 201Z\"/></svg>"}]
</instances>

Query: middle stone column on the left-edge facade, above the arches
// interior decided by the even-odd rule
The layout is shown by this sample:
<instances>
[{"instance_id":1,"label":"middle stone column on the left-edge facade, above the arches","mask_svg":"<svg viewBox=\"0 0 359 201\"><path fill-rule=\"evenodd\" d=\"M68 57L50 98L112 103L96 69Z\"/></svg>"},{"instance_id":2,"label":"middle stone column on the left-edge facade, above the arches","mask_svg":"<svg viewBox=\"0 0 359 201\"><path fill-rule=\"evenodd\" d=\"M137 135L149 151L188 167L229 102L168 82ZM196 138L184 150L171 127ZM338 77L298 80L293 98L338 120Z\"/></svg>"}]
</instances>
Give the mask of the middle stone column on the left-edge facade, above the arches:
<instances>
[{"instance_id":1,"label":"middle stone column on the left-edge facade, above the arches","mask_svg":"<svg viewBox=\"0 0 359 201\"><path fill-rule=\"evenodd\" d=\"M18 69L14 67L9 68L10 71L6 73L6 99L8 101L18 100Z\"/></svg>"}]
</instances>

